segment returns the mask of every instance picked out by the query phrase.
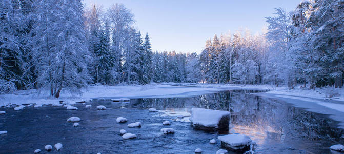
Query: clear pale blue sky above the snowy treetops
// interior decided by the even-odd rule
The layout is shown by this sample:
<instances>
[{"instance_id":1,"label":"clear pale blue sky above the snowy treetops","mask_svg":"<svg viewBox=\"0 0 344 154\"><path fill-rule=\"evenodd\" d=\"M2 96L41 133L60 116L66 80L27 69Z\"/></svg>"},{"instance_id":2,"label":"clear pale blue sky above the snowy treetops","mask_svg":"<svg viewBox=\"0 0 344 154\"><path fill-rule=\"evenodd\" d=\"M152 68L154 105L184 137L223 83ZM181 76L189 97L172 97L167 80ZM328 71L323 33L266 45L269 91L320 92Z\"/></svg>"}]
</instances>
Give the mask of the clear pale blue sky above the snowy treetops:
<instances>
[{"instance_id":1,"label":"clear pale blue sky above the snowy treetops","mask_svg":"<svg viewBox=\"0 0 344 154\"><path fill-rule=\"evenodd\" d=\"M122 3L135 15L135 27L148 32L153 51L197 52L206 40L221 33L248 28L261 33L265 17L282 7L288 12L301 0L84 0L86 7L102 5L104 11L114 3Z\"/></svg>"}]
</instances>

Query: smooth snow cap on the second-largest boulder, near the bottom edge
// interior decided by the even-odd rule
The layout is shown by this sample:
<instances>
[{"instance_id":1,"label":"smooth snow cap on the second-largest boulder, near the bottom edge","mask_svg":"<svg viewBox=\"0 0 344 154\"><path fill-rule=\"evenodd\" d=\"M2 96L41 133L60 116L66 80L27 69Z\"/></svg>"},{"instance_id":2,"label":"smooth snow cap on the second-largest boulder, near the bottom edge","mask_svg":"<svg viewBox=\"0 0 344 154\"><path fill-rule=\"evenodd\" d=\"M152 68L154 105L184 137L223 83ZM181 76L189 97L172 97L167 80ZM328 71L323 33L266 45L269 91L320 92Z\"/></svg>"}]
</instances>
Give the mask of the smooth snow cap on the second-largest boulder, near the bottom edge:
<instances>
[{"instance_id":1,"label":"smooth snow cap on the second-largest boulder, near the bottom edge","mask_svg":"<svg viewBox=\"0 0 344 154\"><path fill-rule=\"evenodd\" d=\"M217 139L231 146L249 145L252 142L251 138L244 134L228 134L225 136L218 136Z\"/></svg>"}]
</instances>

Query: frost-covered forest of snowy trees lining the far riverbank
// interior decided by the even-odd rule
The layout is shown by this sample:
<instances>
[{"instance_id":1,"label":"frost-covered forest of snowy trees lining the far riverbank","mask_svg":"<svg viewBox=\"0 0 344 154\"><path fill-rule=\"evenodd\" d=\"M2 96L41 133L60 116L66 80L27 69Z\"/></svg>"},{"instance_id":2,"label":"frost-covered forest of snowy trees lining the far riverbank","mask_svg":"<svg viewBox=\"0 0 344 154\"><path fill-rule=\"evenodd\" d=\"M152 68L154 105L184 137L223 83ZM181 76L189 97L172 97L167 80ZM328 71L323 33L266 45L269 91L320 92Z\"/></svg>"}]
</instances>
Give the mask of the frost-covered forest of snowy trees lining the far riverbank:
<instances>
[{"instance_id":1,"label":"frost-covered forest of snowy trees lining the far riverbank","mask_svg":"<svg viewBox=\"0 0 344 154\"><path fill-rule=\"evenodd\" d=\"M122 4L0 2L0 93L89 84L201 82L342 86L344 1L303 1L266 17L263 34L215 35L200 53L153 52Z\"/></svg>"}]
</instances>

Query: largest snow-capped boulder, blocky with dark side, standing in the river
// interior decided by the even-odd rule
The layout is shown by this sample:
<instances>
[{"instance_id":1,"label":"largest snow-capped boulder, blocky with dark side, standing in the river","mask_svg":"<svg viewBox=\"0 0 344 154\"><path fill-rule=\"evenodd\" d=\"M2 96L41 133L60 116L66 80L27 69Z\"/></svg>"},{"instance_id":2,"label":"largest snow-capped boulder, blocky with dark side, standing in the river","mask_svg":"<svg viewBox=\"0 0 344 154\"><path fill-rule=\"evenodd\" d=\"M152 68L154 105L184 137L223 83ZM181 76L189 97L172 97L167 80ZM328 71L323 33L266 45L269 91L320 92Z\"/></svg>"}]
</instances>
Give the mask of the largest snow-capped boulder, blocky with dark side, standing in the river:
<instances>
[{"instance_id":1,"label":"largest snow-capped boulder, blocky with dark side, standing in the river","mask_svg":"<svg viewBox=\"0 0 344 154\"><path fill-rule=\"evenodd\" d=\"M230 114L228 111L192 108L191 112L191 126L195 129L213 131L228 128Z\"/></svg>"}]
</instances>

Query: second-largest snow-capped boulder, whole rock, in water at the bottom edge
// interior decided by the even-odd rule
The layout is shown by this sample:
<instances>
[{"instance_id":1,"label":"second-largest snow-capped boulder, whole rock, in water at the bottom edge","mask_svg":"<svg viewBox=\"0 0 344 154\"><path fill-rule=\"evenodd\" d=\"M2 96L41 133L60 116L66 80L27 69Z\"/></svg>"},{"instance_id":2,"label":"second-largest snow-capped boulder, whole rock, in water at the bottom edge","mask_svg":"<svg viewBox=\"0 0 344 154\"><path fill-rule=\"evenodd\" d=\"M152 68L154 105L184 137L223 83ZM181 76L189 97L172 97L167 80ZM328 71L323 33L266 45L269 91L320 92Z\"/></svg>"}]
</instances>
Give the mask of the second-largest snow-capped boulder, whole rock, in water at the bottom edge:
<instances>
[{"instance_id":1,"label":"second-largest snow-capped boulder, whole rock, in water at the bottom edge","mask_svg":"<svg viewBox=\"0 0 344 154\"><path fill-rule=\"evenodd\" d=\"M250 145L252 144L251 138L244 134L228 134L218 136L217 139L221 140L222 147L235 152L250 150Z\"/></svg>"}]
</instances>

